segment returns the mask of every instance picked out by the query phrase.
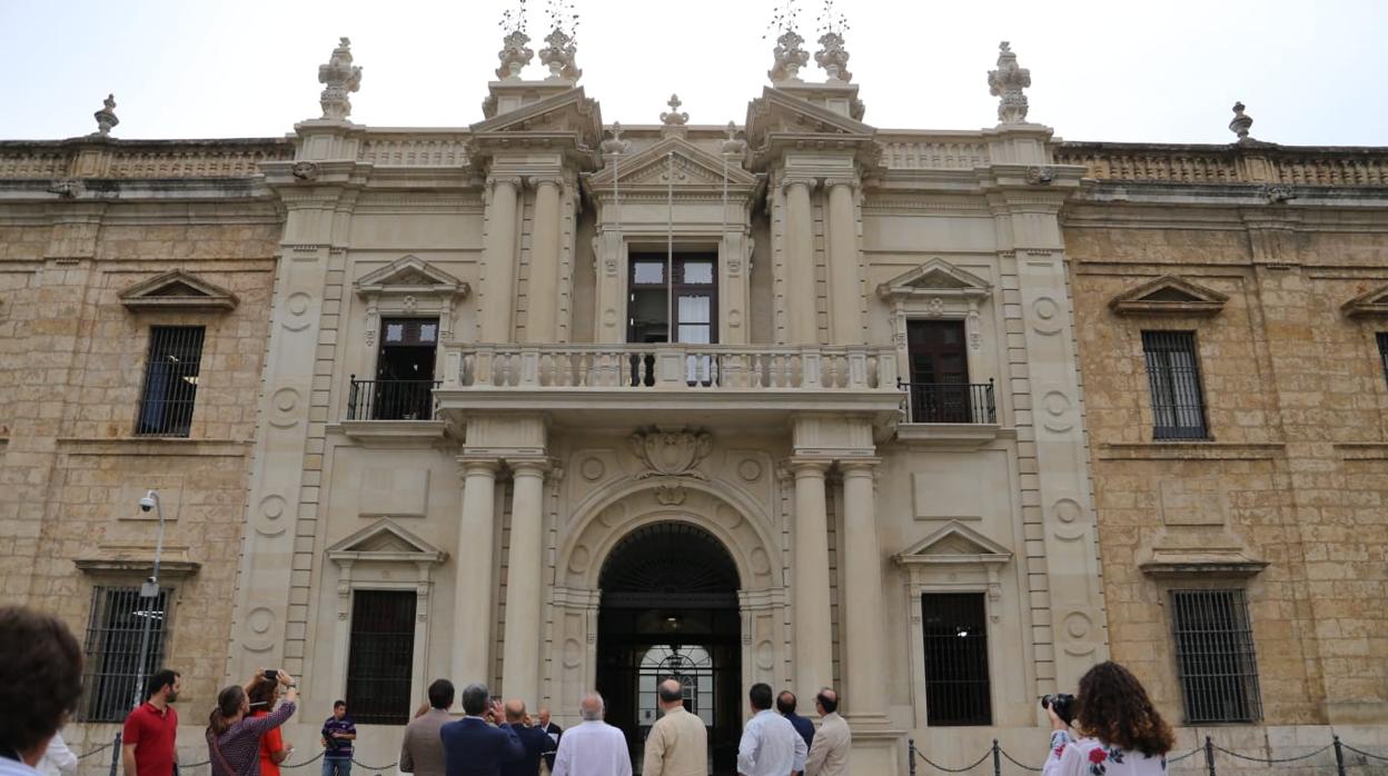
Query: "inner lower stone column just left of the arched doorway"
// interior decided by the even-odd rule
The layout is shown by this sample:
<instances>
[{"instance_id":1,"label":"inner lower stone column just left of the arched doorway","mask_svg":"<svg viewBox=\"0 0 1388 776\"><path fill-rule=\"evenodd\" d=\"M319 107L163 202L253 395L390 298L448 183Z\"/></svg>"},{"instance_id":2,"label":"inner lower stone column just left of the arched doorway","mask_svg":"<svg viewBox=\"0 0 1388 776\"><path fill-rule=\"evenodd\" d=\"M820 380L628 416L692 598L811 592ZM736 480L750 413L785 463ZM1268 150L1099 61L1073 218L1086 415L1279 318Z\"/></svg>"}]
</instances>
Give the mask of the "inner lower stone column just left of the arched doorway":
<instances>
[{"instance_id":1,"label":"inner lower stone column just left of the arched doorway","mask_svg":"<svg viewBox=\"0 0 1388 776\"><path fill-rule=\"evenodd\" d=\"M511 461L511 550L501 690L529 708L540 704L540 575L544 557L545 461Z\"/></svg>"}]
</instances>

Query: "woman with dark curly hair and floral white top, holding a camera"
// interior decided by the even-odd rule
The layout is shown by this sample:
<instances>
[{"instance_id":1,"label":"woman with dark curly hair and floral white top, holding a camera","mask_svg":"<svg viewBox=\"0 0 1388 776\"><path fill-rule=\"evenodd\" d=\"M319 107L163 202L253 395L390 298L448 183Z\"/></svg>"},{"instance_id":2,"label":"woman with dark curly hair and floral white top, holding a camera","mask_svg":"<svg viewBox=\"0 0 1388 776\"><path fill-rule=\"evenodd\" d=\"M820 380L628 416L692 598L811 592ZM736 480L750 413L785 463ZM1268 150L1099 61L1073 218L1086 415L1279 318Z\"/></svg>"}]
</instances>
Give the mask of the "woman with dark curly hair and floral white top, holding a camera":
<instances>
[{"instance_id":1,"label":"woman with dark curly hair and floral white top, holding a camera","mask_svg":"<svg viewBox=\"0 0 1388 776\"><path fill-rule=\"evenodd\" d=\"M1176 734L1133 673L1116 662L1101 662L1080 679L1074 726L1051 715L1051 754L1042 776L1159 776Z\"/></svg>"}]
</instances>

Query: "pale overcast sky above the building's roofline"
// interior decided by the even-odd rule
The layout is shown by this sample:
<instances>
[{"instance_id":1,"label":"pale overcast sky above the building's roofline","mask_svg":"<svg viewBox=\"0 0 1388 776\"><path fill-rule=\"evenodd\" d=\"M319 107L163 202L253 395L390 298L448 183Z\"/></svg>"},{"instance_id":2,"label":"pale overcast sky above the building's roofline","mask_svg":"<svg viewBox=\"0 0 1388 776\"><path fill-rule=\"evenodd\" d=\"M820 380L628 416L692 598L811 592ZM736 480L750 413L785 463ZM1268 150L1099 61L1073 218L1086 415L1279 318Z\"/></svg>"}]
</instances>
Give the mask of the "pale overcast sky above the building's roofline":
<instances>
[{"instance_id":1,"label":"pale overcast sky above the building's roofline","mask_svg":"<svg viewBox=\"0 0 1388 776\"><path fill-rule=\"evenodd\" d=\"M544 0L530 0L532 49ZM802 0L813 51L822 0ZM0 139L261 137L319 115L318 65L350 36L353 121L466 126L496 78L500 0L0 0ZM577 0L582 85L602 121L654 124L670 92L691 124L741 124L768 83L772 0ZM838 0L866 121L979 129L997 121L999 40L1031 69L1030 119L1070 140L1227 143L1252 135L1388 144L1381 0ZM822 81L813 65L806 79ZM526 71L541 78L539 58Z\"/></svg>"}]
</instances>

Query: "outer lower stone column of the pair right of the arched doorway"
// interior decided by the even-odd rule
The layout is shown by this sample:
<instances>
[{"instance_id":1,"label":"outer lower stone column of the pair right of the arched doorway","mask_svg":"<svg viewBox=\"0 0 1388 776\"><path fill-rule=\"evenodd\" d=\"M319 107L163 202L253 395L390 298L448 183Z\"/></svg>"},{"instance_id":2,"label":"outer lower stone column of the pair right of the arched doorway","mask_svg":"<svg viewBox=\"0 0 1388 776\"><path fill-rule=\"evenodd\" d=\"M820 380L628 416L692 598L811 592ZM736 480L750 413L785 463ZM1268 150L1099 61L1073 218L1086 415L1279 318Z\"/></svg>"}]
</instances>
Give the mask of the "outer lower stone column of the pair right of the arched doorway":
<instances>
[{"instance_id":1,"label":"outer lower stone column of the pair right of the arched doorway","mask_svg":"<svg viewBox=\"0 0 1388 776\"><path fill-rule=\"evenodd\" d=\"M844 475L844 652L848 694L845 707L854 720L887 720L887 652L881 634L886 601L881 594L881 547L877 544L877 505L873 493L876 458L838 462ZM808 693L805 687L802 691Z\"/></svg>"}]
</instances>

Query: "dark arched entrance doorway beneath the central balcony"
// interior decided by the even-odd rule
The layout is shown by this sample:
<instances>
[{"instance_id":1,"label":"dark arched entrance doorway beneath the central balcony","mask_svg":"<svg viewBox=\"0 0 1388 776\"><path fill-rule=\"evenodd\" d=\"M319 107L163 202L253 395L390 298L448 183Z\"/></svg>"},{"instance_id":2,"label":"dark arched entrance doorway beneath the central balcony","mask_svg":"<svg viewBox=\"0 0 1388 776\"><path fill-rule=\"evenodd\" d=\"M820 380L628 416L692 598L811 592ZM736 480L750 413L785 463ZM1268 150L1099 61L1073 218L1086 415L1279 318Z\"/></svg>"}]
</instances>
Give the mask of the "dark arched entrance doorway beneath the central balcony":
<instances>
[{"instance_id":1,"label":"dark arched entrance doorway beneath the central balcony","mask_svg":"<svg viewBox=\"0 0 1388 776\"><path fill-rule=\"evenodd\" d=\"M627 533L598 575L597 689L640 768L659 718L655 686L679 679L709 732L712 773L736 772L741 732L737 564L706 530L655 522Z\"/></svg>"}]
</instances>

